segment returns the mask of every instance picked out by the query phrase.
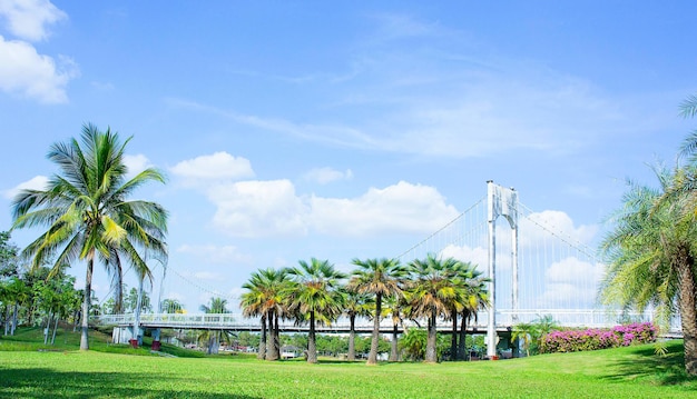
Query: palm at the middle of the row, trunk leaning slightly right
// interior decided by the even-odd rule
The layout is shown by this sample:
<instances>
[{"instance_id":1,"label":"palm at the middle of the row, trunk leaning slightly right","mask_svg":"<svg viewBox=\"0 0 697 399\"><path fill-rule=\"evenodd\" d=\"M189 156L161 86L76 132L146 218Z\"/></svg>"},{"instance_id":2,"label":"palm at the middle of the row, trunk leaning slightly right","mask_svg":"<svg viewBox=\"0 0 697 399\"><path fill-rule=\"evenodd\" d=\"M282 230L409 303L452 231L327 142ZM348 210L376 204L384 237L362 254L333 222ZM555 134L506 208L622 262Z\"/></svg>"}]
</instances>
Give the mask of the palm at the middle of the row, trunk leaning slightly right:
<instances>
[{"instance_id":1,"label":"palm at the middle of the row, trunk leaning slightly right","mask_svg":"<svg viewBox=\"0 0 697 399\"><path fill-rule=\"evenodd\" d=\"M380 318L382 315L382 299L385 296L401 296L403 279L406 270L397 259L354 259L353 265L359 268L353 271L348 281L348 289L375 297L373 315L373 333L371 351L366 365L377 363L377 346L380 343Z\"/></svg>"}]
</instances>

